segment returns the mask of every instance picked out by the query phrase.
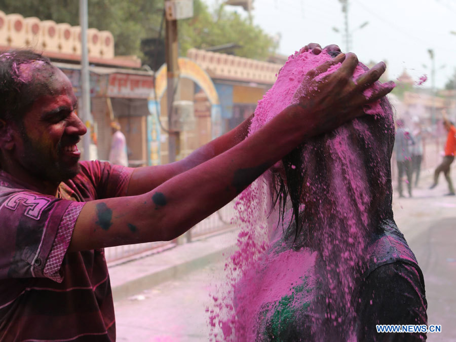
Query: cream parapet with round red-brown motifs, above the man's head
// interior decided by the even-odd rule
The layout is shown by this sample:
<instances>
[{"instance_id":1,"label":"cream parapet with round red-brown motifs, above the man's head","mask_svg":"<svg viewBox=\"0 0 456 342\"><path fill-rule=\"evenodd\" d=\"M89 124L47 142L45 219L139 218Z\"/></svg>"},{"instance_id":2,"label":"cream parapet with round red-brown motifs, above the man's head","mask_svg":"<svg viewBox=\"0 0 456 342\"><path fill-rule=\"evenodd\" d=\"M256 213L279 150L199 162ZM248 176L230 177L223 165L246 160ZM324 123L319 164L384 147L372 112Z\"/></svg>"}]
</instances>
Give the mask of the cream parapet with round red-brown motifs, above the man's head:
<instances>
[{"instance_id":1,"label":"cream parapet with round red-brown motifs, above the man's head","mask_svg":"<svg viewBox=\"0 0 456 342\"><path fill-rule=\"evenodd\" d=\"M114 57L114 37L109 31L89 28L87 31L89 59L108 60ZM33 49L45 55L81 56L81 27L36 17L0 11L0 46L4 48Z\"/></svg>"}]
</instances>

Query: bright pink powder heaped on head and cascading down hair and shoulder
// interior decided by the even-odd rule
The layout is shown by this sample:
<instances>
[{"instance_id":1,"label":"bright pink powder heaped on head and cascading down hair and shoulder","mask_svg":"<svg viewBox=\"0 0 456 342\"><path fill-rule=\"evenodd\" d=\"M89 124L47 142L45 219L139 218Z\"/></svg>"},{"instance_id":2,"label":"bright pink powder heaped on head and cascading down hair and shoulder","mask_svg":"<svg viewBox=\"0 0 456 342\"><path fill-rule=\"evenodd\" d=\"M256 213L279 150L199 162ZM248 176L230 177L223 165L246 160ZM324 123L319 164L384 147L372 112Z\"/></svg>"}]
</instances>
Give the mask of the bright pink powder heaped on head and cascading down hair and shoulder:
<instances>
[{"instance_id":1,"label":"bright pink powder heaped on head and cascading down hair and shoulder","mask_svg":"<svg viewBox=\"0 0 456 342\"><path fill-rule=\"evenodd\" d=\"M307 52L290 56L279 72L274 86L258 101L249 135L272 120L285 107L295 103L297 96L306 96L308 89L303 89L300 85L307 71L330 59L331 56L325 53L314 55ZM325 73L319 75L318 80L322 80L325 75L334 72L340 66L340 63L333 65ZM354 73L354 80L364 72L365 70L358 66ZM374 89L381 87L383 85L379 83L374 85ZM296 94L296 91L299 93ZM364 92L366 98L371 94L372 89ZM365 112L372 115L384 114L379 101L367 105ZM370 138L368 128L358 122L355 122L354 126L368 141ZM391 129L393 128L385 127L385 131ZM328 302L336 298L339 302L336 306L348 306L348 310L353 312L354 308L350 308L350 306L355 286L354 279L344 275L359 267L360 253L366 247L365 232L360 231L358 226L359 221L362 226L369 224L366 208L372 194L369 193L368 188L366 189L364 168L359 158L356 158L356 151L348 147L350 145L349 131L344 129L339 129L339 131L340 133L330 143L331 154L337 165L332 174L333 182L344 184L340 187L342 190L334 196L338 199L337 212L334 215L344 218L348 230L344 236L341 236L341 239L345 238L345 241L342 242L334 240L334 236L338 234L336 227L333 231L328 231L326 238L331 239L331 244L324 247L321 254L328 262L338 260L336 272L328 273L330 274L328 284L332 294L331 299L327 298ZM382 182L387 181L386 175L381 178L383 178ZM237 240L238 250L229 257L225 264L227 285L220 286L216 295L212 294L217 300L213 298L212 308L208 308L212 328L211 340L255 340L255 321L261 305L289 294L292 284L297 284L303 270L313 268L315 252L312 251L289 250L276 256L265 253L269 246L278 239L277 232L281 231L281 227L279 227L274 232L278 222L277 215L268 217L271 199L266 184L268 184L268 173L250 185L237 199L237 214L233 222L240 227ZM312 193L315 185L309 182L307 185L309 186L308 191ZM352 195L344 193L345 188L350 188L351 192L355 194L356 203L347 200ZM353 213L358 213L359 216L355 217ZM286 227L286 224L284 226ZM312 282L313 279L311 278L309 281ZM339 312L328 313L335 324L341 322L339 314Z\"/></svg>"}]
</instances>

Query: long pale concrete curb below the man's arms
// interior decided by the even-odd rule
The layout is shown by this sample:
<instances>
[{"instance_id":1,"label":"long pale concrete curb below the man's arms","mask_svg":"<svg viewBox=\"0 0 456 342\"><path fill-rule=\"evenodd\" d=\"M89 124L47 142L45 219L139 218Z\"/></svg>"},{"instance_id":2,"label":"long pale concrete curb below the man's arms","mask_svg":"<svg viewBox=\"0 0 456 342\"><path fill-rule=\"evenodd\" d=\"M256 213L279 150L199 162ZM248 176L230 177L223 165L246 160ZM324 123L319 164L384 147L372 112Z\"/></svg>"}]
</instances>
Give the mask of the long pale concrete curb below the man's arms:
<instances>
[{"instance_id":1,"label":"long pale concrete curb below the man's arms","mask_svg":"<svg viewBox=\"0 0 456 342\"><path fill-rule=\"evenodd\" d=\"M237 231L176 246L109 268L115 301L220 261L235 248Z\"/></svg>"}]
</instances>

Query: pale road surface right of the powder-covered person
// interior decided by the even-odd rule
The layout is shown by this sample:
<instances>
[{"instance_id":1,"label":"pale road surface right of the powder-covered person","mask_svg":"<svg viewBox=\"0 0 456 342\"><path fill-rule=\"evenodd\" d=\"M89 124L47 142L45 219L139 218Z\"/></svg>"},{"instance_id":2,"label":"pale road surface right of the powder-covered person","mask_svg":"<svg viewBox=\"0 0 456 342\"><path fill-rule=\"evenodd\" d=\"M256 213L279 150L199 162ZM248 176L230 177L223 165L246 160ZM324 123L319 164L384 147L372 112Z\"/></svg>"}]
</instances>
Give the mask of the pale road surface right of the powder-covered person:
<instances>
[{"instance_id":1,"label":"pale road surface right of the powder-covered person","mask_svg":"<svg viewBox=\"0 0 456 342\"><path fill-rule=\"evenodd\" d=\"M456 197L444 196L448 188L442 174L429 190L431 183L428 171L413 198L394 198L393 210L423 271L428 324L442 325L442 332L429 333L428 340L456 341Z\"/></svg>"}]
</instances>

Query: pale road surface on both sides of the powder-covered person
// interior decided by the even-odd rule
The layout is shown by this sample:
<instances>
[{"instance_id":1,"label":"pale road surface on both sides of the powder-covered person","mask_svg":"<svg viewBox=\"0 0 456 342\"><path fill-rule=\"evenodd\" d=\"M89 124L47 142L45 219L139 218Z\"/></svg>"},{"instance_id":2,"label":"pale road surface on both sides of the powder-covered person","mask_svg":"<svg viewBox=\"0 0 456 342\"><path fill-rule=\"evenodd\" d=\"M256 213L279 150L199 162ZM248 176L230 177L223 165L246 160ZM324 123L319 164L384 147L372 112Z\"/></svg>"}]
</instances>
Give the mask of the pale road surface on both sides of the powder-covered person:
<instances>
[{"instance_id":1,"label":"pale road surface on both sides of the powder-covered person","mask_svg":"<svg viewBox=\"0 0 456 342\"><path fill-rule=\"evenodd\" d=\"M431 176L431 171L423 172L412 198L399 198L395 193L393 209L423 270L428 324L442 325L442 332L429 333L428 340L456 341L456 197L443 196L448 192L443 175L435 189L428 189ZM223 265L218 257L191 273L116 300L118 340L208 340L205 307Z\"/></svg>"}]
</instances>

